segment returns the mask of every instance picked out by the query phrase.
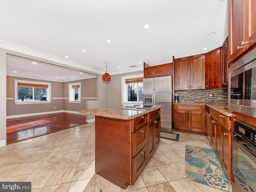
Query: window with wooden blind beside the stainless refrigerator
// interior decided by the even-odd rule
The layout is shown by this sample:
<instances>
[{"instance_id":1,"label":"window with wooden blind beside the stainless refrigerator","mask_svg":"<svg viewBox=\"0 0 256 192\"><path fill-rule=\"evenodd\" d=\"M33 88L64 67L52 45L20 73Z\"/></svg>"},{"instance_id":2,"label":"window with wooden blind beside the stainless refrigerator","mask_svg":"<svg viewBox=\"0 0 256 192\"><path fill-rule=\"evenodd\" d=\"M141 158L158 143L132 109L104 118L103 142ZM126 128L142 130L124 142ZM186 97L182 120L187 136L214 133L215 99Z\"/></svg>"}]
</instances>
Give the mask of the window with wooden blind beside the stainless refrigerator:
<instances>
[{"instance_id":1,"label":"window with wooden blind beside the stainless refrigerator","mask_svg":"<svg viewBox=\"0 0 256 192\"><path fill-rule=\"evenodd\" d=\"M143 78L126 79L128 101L143 101Z\"/></svg>"}]
</instances>

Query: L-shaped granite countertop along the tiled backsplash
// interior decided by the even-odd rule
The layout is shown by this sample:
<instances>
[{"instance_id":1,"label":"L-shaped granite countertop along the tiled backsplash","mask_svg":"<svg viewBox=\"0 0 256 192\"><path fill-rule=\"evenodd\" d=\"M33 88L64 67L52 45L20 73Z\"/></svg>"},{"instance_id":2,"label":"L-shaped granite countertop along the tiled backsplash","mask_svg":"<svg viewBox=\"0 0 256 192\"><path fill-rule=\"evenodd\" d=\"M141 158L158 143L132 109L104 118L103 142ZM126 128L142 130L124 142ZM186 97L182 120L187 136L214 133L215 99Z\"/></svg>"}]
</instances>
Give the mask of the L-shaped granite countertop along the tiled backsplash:
<instances>
[{"instance_id":1,"label":"L-shaped granite countertop along the tiled backsplash","mask_svg":"<svg viewBox=\"0 0 256 192\"><path fill-rule=\"evenodd\" d=\"M231 117L231 110L228 110L228 105L225 103L206 103L206 102L198 102L198 103L175 103L175 105L205 105L208 106L210 108L212 108L213 110L216 110L217 112Z\"/></svg>"}]
</instances>

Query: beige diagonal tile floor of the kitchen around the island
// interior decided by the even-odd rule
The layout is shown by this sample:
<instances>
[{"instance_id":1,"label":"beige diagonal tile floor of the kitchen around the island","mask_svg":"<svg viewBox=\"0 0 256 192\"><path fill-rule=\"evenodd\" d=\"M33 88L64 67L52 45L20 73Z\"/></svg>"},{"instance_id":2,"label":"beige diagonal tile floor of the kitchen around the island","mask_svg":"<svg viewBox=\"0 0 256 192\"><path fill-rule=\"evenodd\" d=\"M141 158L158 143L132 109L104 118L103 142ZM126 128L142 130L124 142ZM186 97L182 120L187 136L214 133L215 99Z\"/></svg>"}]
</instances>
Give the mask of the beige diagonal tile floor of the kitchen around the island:
<instances>
[{"instance_id":1,"label":"beige diagonal tile floor of the kitchen around the island","mask_svg":"<svg viewBox=\"0 0 256 192\"><path fill-rule=\"evenodd\" d=\"M185 176L185 146L211 148L206 136L161 138L136 183L124 190L95 174L94 133L89 123L0 147L0 181L32 182L32 192L223 192Z\"/></svg>"}]
</instances>

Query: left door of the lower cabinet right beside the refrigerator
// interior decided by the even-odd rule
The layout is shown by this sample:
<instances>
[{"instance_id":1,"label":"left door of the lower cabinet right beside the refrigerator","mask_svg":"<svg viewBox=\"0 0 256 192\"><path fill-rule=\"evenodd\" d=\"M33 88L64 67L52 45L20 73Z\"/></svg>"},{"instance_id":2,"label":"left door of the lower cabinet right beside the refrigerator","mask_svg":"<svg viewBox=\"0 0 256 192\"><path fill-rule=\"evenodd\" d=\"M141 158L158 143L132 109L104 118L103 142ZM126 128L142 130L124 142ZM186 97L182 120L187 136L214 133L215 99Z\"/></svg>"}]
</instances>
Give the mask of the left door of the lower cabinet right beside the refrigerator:
<instances>
[{"instance_id":1,"label":"left door of the lower cabinet right beside the refrigerator","mask_svg":"<svg viewBox=\"0 0 256 192\"><path fill-rule=\"evenodd\" d=\"M188 130L188 110L174 110L174 128Z\"/></svg>"}]
</instances>

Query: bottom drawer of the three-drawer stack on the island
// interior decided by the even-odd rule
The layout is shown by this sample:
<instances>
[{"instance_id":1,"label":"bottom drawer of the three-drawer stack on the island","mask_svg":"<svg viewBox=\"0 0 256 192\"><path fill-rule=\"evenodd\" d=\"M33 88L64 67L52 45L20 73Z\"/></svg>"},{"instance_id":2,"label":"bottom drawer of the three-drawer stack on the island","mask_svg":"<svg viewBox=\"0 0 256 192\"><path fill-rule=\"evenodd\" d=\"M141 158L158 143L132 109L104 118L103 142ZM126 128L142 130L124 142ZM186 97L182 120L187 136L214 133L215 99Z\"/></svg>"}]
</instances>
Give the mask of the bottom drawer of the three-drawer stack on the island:
<instances>
[{"instance_id":1,"label":"bottom drawer of the three-drawer stack on the island","mask_svg":"<svg viewBox=\"0 0 256 192\"><path fill-rule=\"evenodd\" d=\"M140 176L141 172L148 163L148 144L146 144L138 154L132 158L132 179L134 181Z\"/></svg>"}]
</instances>

